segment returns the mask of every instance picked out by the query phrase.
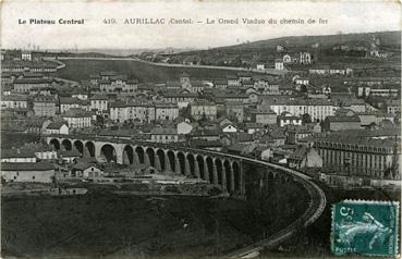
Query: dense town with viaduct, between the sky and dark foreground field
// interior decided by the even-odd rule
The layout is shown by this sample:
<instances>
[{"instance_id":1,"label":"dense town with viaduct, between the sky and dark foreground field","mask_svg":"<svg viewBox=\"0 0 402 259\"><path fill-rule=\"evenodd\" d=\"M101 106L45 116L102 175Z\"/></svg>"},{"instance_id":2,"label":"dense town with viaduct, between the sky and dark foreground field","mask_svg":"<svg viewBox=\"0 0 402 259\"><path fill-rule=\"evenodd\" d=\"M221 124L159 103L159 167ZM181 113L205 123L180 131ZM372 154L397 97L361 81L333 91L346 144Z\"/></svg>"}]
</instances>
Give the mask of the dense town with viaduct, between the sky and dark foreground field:
<instances>
[{"instance_id":1,"label":"dense town with viaduct, between the sky and dark foreground field","mask_svg":"<svg viewBox=\"0 0 402 259\"><path fill-rule=\"evenodd\" d=\"M2 196L253 200L273 183L289 194L280 199L300 195L285 219L305 209L297 219L309 223L326 207L320 188L398 193L401 52L390 34L400 38L127 57L2 49Z\"/></svg>"}]
</instances>

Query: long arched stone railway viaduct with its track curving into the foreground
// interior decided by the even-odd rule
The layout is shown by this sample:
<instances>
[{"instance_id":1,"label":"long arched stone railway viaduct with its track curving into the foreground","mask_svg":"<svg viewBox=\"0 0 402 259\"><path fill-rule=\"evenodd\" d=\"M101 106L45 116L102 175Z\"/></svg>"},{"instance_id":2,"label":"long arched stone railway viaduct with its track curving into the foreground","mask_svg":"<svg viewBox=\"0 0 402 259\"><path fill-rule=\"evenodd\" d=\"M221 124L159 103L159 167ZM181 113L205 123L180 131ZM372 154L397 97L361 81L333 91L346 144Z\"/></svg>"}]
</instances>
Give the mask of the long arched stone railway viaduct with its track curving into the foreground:
<instances>
[{"instance_id":1,"label":"long arched stone railway viaduct with its track curving into the foreground","mask_svg":"<svg viewBox=\"0 0 402 259\"><path fill-rule=\"evenodd\" d=\"M243 156L203 150L183 145L166 145L134 139L98 137L87 135L50 135L45 137L56 149L78 150L83 157L114 161L120 164L143 163L161 172L175 172L190 177L198 177L211 184L220 185L230 195L246 196L246 176L244 163L258 165L261 170L248 188L263 193L270 183L287 184L297 182L309 196L308 208L289 226L251 246L227 255L230 258L248 258L265 248L278 246L295 234L299 226L306 227L314 223L326 208L324 192L305 174L293 169Z\"/></svg>"}]
</instances>

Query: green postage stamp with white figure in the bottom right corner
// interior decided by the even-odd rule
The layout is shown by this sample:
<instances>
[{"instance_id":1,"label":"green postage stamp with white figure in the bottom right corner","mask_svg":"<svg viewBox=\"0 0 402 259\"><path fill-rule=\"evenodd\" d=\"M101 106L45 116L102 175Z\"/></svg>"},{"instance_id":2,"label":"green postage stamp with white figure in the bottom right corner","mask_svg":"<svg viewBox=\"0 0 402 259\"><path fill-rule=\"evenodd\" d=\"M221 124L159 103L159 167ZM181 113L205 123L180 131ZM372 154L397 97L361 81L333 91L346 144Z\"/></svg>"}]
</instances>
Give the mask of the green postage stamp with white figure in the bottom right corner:
<instances>
[{"instance_id":1,"label":"green postage stamp with white figure in the bottom right corner","mask_svg":"<svg viewBox=\"0 0 402 259\"><path fill-rule=\"evenodd\" d=\"M398 254L399 202L343 200L332 206L334 255L393 257Z\"/></svg>"}]
</instances>

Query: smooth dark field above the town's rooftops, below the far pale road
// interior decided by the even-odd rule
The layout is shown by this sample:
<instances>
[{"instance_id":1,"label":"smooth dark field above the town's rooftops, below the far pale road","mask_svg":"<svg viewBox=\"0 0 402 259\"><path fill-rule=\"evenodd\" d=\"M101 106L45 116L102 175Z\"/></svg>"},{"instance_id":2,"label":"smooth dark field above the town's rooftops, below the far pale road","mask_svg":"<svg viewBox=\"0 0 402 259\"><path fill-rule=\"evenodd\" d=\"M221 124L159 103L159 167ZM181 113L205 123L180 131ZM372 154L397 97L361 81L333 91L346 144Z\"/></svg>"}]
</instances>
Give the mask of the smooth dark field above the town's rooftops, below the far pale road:
<instances>
[{"instance_id":1,"label":"smooth dark field above the town's rooftops, below the far pale road","mask_svg":"<svg viewBox=\"0 0 402 259\"><path fill-rule=\"evenodd\" d=\"M101 71L117 71L142 83L178 81L182 72L186 72L192 78L222 78L228 74L236 73L229 70L157 66L134 60L63 60L62 62L65 63L65 67L59 70L57 75L72 81L89 79L90 74L99 74Z\"/></svg>"}]
</instances>

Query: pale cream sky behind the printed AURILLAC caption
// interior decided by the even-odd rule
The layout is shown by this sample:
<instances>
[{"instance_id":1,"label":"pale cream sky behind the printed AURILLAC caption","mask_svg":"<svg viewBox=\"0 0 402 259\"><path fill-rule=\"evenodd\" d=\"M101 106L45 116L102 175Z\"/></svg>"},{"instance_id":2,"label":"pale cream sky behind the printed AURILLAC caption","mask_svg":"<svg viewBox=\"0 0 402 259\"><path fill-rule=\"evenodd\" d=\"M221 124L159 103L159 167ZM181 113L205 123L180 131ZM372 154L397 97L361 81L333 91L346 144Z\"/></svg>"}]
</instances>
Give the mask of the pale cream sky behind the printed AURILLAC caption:
<instances>
[{"instance_id":1,"label":"pale cream sky behind the printed AURILLAC caption","mask_svg":"<svg viewBox=\"0 0 402 259\"><path fill-rule=\"evenodd\" d=\"M2 48L28 49L156 49L236 45L283 36L369 33L401 29L395 1L23 1L5 0L1 8ZM36 20L81 20L84 25L28 24ZM118 24L105 24L115 18ZM193 24L124 24L126 18L191 18ZM215 20L215 24L207 24ZM239 18L240 24L220 24ZM243 18L264 20L245 25ZM268 21L277 20L277 24ZM282 18L304 24L280 24ZM319 18L327 23L319 24ZM314 20L314 24L308 21ZM27 24L20 24L27 21Z\"/></svg>"}]
</instances>

